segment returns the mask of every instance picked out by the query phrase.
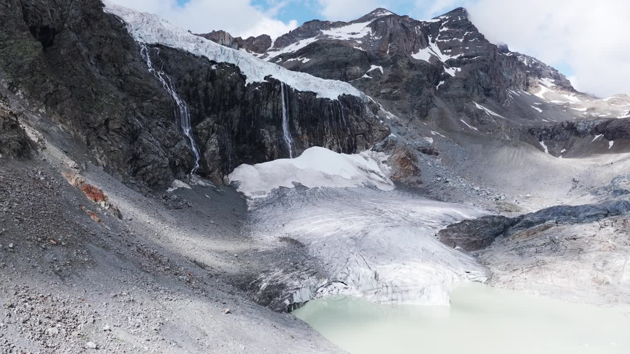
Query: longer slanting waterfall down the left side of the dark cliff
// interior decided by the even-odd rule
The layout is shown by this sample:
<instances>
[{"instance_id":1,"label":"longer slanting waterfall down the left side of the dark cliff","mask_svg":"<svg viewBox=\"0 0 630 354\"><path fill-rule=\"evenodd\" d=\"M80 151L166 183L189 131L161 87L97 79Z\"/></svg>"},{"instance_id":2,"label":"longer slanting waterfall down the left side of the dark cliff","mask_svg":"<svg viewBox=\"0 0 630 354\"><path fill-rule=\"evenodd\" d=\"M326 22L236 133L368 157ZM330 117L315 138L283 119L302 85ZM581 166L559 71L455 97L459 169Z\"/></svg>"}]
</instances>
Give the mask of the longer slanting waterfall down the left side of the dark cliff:
<instances>
[{"instance_id":1,"label":"longer slanting waterfall down the left side of the dark cliff","mask_svg":"<svg viewBox=\"0 0 630 354\"><path fill-rule=\"evenodd\" d=\"M153 67L153 63L151 62L151 54L149 53L149 47L147 47L147 45L144 43L140 43L140 55L142 55L142 58L147 61L149 72L151 72L151 74L153 74L153 76L155 76L160 81L160 83L162 83L162 87L171 96L173 103L175 103L175 105L173 106L173 110L175 111L176 120L179 121L178 123L180 125L180 132L181 134L183 134L186 140L188 140L188 145L195 155L195 166L190 171L190 174L194 174L195 171L197 171L197 169L199 168L201 155L199 153L199 149L197 149L197 143L195 143L195 137L193 137L192 128L190 127L190 111L188 111L188 105L186 105L186 102L182 100L180 95L177 94L177 92L175 91L175 85L173 84L173 81L171 81L171 78L168 77L168 75L166 75L161 69L156 70Z\"/></svg>"}]
</instances>

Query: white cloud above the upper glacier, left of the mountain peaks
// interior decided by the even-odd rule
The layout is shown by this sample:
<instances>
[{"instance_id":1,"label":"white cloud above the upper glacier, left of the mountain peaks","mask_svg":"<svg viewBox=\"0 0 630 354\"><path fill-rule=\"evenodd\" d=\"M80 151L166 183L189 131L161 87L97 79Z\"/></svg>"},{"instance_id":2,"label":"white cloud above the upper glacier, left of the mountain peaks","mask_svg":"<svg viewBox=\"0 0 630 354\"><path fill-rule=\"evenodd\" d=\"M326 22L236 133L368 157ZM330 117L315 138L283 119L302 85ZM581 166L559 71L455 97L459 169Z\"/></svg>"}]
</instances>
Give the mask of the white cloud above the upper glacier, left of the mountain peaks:
<instances>
[{"instance_id":1,"label":"white cloud above the upper glacier, left of the mountain peaks","mask_svg":"<svg viewBox=\"0 0 630 354\"><path fill-rule=\"evenodd\" d=\"M195 33L226 30L235 37L267 34L275 38L297 27L295 20L284 23L273 18L286 1L272 3L269 11L256 8L250 0L190 0L183 7L178 6L176 0L110 1L158 14Z\"/></svg>"}]
</instances>

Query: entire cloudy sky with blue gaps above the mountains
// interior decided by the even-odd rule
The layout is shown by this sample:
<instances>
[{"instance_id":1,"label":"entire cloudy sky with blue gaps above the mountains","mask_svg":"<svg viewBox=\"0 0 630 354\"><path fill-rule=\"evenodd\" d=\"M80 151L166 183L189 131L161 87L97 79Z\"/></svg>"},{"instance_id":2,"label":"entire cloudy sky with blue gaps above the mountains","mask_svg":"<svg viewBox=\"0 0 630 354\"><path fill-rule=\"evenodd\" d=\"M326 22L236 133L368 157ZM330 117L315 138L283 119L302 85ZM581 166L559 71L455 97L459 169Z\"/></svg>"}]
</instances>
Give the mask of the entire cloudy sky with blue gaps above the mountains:
<instances>
[{"instance_id":1,"label":"entire cloudy sky with blue gaps above the mountains","mask_svg":"<svg viewBox=\"0 0 630 354\"><path fill-rule=\"evenodd\" d=\"M601 97L630 94L628 0L110 0L186 30L235 37L287 33L305 21L350 21L375 8L425 20L465 7L493 43L532 55Z\"/></svg>"}]
</instances>

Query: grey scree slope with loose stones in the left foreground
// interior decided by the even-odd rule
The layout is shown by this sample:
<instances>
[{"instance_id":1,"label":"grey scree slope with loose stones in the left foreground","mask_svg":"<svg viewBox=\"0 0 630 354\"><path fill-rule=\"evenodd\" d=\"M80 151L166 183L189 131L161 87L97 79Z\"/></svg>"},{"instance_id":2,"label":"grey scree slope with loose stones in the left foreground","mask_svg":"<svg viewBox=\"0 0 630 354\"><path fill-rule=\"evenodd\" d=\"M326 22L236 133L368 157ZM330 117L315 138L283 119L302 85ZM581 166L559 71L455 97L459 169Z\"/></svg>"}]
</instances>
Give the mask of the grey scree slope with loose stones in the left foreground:
<instances>
[{"instance_id":1,"label":"grey scree slope with loose stones in the left foreground","mask_svg":"<svg viewBox=\"0 0 630 354\"><path fill-rule=\"evenodd\" d=\"M91 164L81 142L38 128L52 133L45 150L0 159L1 352L338 352L248 294L270 256L300 251L288 244L261 258L266 245L248 236L245 202L231 188L143 195Z\"/></svg>"}]
</instances>

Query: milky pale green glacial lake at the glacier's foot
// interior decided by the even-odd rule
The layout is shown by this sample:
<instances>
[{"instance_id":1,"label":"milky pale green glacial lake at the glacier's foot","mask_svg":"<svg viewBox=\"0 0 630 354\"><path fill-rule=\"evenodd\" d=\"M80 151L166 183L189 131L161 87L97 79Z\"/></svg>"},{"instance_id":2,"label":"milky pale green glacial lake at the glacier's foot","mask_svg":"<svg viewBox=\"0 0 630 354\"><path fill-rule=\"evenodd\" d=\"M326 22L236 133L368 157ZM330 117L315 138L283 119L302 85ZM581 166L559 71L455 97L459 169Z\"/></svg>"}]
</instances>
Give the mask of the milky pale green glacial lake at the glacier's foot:
<instances>
[{"instance_id":1,"label":"milky pale green glacial lake at the glacier's foot","mask_svg":"<svg viewBox=\"0 0 630 354\"><path fill-rule=\"evenodd\" d=\"M571 304L479 283L450 307L338 297L292 312L350 354L630 353L630 308Z\"/></svg>"}]
</instances>

